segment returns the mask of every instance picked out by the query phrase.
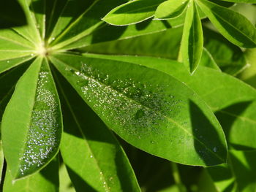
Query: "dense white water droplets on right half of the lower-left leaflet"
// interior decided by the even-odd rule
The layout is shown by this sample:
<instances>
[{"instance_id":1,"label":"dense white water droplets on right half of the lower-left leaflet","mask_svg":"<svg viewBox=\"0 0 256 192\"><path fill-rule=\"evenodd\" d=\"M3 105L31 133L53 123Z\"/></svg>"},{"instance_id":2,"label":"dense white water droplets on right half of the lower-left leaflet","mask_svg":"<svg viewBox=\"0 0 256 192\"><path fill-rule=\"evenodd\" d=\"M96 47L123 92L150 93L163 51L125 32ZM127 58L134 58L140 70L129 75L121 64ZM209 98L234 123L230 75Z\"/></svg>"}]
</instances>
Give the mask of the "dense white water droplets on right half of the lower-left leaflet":
<instances>
[{"instance_id":1,"label":"dense white water droplets on right half of the lower-left leaflet","mask_svg":"<svg viewBox=\"0 0 256 192\"><path fill-rule=\"evenodd\" d=\"M49 154L58 145L56 131L59 127L56 112L58 103L56 96L46 87L49 84L49 73L39 72L37 93L25 151L20 158L20 172L25 174L31 169L42 166L49 158Z\"/></svg>"}]
</instances>

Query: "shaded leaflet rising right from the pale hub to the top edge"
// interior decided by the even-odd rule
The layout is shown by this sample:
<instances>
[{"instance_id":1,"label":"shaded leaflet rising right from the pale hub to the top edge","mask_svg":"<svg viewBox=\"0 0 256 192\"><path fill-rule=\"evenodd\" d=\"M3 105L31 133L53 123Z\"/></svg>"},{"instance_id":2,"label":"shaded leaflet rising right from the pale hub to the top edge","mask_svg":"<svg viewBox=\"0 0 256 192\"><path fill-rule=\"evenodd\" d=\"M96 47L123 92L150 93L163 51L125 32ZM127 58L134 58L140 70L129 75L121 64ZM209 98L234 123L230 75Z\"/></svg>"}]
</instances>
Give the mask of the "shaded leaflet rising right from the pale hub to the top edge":
<instances>
[{"instance_id":1,"label":"shaded leaflet rising right from the pale hub to the top edge","mask_svg":"<svg viewBox=\"0 0 256 192\"><path fill-rule=\"evenodd\" d=\"M118 6L123 1L116 1L116 0L107 0L107 1L92 1L90 4L84 7L84 1L83 0L76 0L80 1L81 4L83 4L83 9L81 9L79 17L67 17L68 20L72 19L67 22L67 18L64 17L65 15L61 15L61 18L56 23L56 29L63 28L63 30L56 34L55 31L53 31L53 34L50 36L50 42L48 42L52 47L52 49L59 49L60 47L64 47L66 45L69 45L70 43L76 42L79 39L86 37L94 32L96 28L102 25L103 21L101 18L107 14L108 9L113 9L113 7ZM68 1L70 2L70 1ZM70 2L72 3L72 2ZM74 2L73 2L74 3ZM77 5L78 6L78 5ZM65 7L64 12L67 11L67 14L69 14L70 10L69 7ZM74 12L77 12L77 9L72 10ZM71 13L72 14L72 13ZM77 13L76 13L77 14ZM63 18L63 17L64 18ZM64 21L64 23L62 23ZM64 24L64 25L63 25Z\"/></svg>"}]
</instances>

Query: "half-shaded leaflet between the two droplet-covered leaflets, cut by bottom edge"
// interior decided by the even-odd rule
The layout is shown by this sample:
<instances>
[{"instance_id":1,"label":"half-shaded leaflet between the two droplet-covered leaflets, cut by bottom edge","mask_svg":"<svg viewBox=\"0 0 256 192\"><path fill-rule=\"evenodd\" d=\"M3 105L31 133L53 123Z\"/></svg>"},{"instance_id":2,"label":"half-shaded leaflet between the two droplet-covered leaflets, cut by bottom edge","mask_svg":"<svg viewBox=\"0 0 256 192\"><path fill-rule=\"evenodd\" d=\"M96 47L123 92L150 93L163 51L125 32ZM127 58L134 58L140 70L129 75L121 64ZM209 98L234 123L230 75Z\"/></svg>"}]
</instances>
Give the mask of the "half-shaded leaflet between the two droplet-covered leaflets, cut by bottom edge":
<instances>
[{"instance_id":1,"label":"half-shaded leaflet between the two droplet-covered leaflets, cut by bottom edge","mask_svg":"<svg viewBox=\"0 0 256 192\"><path fill-rule=\"evenodd\" d=\"M57 82L64 115L61 156L76 191L140 191L113 133L64 77Z\"/></svg>"}]
</instances>

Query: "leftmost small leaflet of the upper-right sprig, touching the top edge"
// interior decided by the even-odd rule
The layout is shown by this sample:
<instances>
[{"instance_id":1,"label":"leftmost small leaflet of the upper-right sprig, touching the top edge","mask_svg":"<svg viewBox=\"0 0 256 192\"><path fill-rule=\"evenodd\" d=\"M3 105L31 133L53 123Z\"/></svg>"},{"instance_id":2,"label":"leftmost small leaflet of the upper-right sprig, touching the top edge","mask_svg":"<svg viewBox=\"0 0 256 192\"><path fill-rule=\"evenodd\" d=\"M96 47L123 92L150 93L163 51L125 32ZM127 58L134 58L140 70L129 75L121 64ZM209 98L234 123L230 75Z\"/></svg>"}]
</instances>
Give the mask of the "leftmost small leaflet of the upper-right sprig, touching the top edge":
<instances>
[{"instance_id":1,"label":"leftmost small leaflet of the upper-right sprig, touching the top edge","mask_svg":"<svg viewBox=\"0 0 256 192\"><path fill-rule=\"evenodd\" d=\"M164 0L135 0L112 9L102 20L111 25L125 26L139 23L154 16L158 5Z\"/></svg>"}]
</instances>

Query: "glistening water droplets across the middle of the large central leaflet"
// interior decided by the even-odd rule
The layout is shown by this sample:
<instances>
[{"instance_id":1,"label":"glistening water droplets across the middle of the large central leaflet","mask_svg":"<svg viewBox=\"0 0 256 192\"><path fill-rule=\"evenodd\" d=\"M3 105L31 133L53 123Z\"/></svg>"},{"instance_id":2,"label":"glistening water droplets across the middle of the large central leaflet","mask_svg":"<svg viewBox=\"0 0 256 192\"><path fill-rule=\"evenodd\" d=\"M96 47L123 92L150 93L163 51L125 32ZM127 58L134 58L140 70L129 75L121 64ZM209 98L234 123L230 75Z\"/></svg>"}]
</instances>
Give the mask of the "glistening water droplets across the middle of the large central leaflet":
<instances>
[{"instance_id":1,"label":"glistening water droplets across the middle of the large central leaflet","mask_svg":"<svg viewBox=\"0 0 256 192\"><path fill-rule=\"evenodd\" d=\"M78 77L77 86L83 97L121 134L132 134L140 139L154 131L159 137L166 137L159 125L172 126L167 116L175 117L181 107L181 99L163 93L166 88L171 89L170 85L151 85L131 78L111 79L110 75L86 64L72 74Z\"/></svg>"}]
</instances>

